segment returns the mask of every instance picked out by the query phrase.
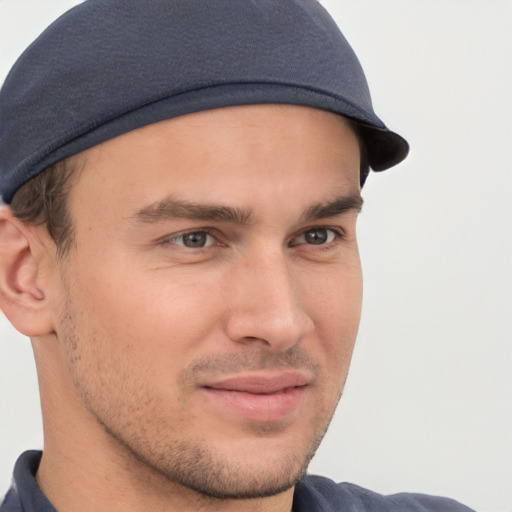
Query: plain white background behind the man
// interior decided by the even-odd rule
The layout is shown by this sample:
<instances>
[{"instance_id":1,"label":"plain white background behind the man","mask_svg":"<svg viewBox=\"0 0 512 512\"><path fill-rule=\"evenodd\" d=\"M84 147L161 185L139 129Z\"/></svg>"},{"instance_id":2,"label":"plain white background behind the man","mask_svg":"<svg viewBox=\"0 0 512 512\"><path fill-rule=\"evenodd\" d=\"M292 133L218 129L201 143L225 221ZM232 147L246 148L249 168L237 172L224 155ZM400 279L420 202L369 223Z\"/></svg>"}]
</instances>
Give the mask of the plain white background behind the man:
<instances>
[{"instance_id":1,"label":"plain white background behind the man","mask_svg":"<svg viewBox=\"0 0 512 512\"><path fill-rule=\"evenodd\" d=\"M75 3L0 0L0 80ZM512 1L324 5L412 150L364 189L361 331L311 472L512 512ZM0 315L0 493L38 447L30 346Z\"/></svg>"}]
</instances>

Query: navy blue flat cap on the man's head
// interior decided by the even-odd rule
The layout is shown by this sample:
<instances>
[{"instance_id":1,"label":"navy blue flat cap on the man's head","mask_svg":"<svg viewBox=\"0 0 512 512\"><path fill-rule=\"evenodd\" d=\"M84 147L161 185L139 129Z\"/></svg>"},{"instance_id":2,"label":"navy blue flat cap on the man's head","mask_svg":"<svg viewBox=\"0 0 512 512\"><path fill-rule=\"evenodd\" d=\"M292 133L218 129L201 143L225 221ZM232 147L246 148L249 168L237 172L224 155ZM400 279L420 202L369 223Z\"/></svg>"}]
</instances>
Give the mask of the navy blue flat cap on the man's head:
<instances>
[{"instance_id":1,"label":"navy blue flat cap on the man's head","mask_svg":"<svg viewBox=\"0 0 512 512\"><path fill-rule=\"evenodd\" d=\"M316 0L88 0L28 47L0 91L0 192L9 203L51 164L141 126L257 103L354 120L373 170L407 156Z\"/></svg>"}]
</instances>

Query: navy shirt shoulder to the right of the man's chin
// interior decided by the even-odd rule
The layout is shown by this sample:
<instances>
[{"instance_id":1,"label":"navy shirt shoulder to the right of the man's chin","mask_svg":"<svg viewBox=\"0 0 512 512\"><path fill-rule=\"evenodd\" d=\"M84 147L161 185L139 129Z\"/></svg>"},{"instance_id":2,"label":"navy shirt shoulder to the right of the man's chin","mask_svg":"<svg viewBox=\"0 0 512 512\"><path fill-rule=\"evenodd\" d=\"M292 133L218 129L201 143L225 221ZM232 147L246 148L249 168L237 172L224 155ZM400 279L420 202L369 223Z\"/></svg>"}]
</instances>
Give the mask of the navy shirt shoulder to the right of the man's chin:
<instances>
[{"instance_id":1,"label":"navy shirt shoulder to the right of the man's chin","mask_svg":"<svg viewBox=\"0 0 512 512\"><path fill-rule=\"evenodd\" d=\"M349 483L306 475L295 488L294 512L474 512L457 501L426 494L385 496Z\"/></svg>"}]
</instances>

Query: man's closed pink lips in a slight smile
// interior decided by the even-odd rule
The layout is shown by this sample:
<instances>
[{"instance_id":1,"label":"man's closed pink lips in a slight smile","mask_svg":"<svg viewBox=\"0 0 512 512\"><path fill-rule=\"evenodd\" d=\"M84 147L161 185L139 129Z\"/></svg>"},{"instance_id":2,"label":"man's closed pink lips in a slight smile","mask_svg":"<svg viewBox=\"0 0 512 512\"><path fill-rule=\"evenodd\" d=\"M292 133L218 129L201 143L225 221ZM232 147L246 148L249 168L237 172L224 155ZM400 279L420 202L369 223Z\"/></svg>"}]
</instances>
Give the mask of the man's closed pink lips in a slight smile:
<instances>
[{"instance_id":1,"label":"man's closed pink lips in a slight smile","mask_svg":"<svg viewBox=\"0 0 512 512\"><path fill-rule=\"evenodd\" d=\"M229 414L258 423L285 420L298 410L309 379L300 373L233 376L206 384L206 395Z\"/></svg>"}]
</instances>

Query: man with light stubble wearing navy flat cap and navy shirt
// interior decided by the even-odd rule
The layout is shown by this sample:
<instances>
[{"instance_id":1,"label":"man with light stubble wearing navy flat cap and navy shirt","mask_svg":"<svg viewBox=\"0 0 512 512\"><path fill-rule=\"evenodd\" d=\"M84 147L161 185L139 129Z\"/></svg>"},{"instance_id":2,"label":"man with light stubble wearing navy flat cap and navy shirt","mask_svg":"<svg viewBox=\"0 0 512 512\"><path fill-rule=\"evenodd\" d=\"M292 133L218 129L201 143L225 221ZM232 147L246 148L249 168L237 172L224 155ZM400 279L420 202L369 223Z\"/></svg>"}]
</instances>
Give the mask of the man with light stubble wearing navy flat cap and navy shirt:
<instances>
[{"instance_id":1,"label":"man with light stubble wearing navy flat cap and navy shirt","mask_svg":"<svg viewBox=\"0 0 512 512\"><path fill-rule=\"evenodd\" d=\"M343 391L369 168L407 143L315 1L90 0L0 95L18 510L469 510L304 476Z\"/></svg>"}]
</instances>

